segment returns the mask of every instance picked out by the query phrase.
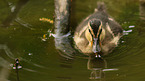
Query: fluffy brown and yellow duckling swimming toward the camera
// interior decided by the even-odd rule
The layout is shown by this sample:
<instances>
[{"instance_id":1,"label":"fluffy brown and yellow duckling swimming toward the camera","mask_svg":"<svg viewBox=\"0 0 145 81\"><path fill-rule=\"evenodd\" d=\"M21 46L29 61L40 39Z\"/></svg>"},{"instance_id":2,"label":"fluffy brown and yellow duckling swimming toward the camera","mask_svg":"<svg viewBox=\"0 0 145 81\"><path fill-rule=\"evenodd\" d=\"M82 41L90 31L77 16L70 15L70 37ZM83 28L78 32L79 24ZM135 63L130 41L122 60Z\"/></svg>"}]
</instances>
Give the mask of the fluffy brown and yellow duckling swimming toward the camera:
<instances>
[{"instance_id":1,"label":"fluffy brown and yellow duckling swimming toward the camera","mask_svg":"<svg viewBox=\"0 0 145 81\"><path fill-rule=\"evenodd\" d=\"M122 27L106 12L103 2L99 2L97 9L84 19L74 32L76 48L84 54L110 53L122 37Z\"/></svg>"}]
</instances>

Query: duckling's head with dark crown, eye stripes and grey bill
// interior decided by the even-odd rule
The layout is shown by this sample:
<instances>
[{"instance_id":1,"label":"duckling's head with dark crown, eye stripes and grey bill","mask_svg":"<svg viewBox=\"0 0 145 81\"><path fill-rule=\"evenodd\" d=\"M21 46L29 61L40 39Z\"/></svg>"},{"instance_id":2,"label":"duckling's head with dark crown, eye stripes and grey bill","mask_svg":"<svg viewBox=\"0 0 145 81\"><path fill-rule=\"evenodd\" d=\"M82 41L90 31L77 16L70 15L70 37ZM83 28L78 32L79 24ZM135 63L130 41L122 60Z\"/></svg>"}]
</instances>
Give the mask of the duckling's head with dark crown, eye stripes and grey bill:
<instances>
[{"instance_id":1,"label":"duckling's head with dark crown, eye stripes and grey bill","mask_svg":"<svg viewBox=\"0 0 145 81\"><path fill-rule=\"evenodd\" d=\"M100 19L91 19L88 22L89 25L89 33L92 38L92 47L93 52L97 53L101 51L100 45L100 34L102 33L102 21Z\"/></svg>"}]
</instances>

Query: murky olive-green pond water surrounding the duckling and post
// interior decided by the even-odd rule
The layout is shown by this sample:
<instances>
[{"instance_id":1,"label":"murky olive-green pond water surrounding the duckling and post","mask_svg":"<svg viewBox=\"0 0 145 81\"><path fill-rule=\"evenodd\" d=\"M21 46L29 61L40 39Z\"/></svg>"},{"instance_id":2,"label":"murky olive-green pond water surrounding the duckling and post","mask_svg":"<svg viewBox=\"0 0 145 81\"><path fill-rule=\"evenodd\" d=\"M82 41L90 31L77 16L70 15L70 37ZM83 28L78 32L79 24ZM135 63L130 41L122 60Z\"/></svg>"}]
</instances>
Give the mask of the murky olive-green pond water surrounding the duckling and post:
<instances>
[{"instance_id":1,"label":"murky olive-green pond water surrounding the duckling and post","mask_svg":"<svg viewBox=\"0 0 145 81\"><path fill-rule=\"evenodd\" d=\"M56 49L54 26L50 23L53 0L22 1L21 5L17 5L19 0L0 1L0 81L17 81L17 73L12 69L16 58L23 67L19 70L20 81L145 80L145 24L140 19L138 0L102 0L108 13L122 25L124 36L118 47L100 61L88 61L89 57L82 53L66 55L67 49L63 52ZM72 0L72 34L93 13L96 2ZM17 12L16 5L21 6ZM10 14L14 17L9 19ZM40 21L40 18L47 19Z\"/></svg>"}]
</instances>

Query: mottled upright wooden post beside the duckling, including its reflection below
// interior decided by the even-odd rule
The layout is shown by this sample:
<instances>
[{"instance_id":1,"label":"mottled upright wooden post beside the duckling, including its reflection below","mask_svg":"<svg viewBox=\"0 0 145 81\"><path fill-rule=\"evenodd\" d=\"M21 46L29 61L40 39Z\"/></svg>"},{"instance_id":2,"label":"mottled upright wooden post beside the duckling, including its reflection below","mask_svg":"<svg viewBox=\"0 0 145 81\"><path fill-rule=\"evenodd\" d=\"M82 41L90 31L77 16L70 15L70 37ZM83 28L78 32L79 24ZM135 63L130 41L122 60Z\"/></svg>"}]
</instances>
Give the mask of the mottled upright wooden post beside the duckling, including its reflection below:
<instances>
[{"instance_id":1,"label":"mottled upright wooden post beside the duckling, including its reflection below","mask_svg":"<svg viewBox=\"0 0 145 81\"><path fill-rule=\"evenodd\" d=\"M75 50L70 43L69 21L70 21L70 0L55 1L55 47L64 52L59 54L62 57L73 58Z\"/></svg>"}]
</instances>

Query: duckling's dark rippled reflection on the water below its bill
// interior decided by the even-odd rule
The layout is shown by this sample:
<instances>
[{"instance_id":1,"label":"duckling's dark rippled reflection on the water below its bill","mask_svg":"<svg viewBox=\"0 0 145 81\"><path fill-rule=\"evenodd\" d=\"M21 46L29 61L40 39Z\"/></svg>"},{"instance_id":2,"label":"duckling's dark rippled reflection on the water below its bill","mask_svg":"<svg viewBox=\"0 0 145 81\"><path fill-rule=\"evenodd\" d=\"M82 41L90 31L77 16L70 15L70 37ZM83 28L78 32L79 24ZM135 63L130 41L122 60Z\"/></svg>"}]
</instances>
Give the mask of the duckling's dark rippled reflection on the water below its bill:
<instances>
[{"instance_id":1,"label":"duckling's dark rippled reflection on the water below its bill","mask_svg":"<svg viewBox=\"0 0 145 81\"><path fill-rule=\"evenodd\" d=\"M101 79L105 77L103 69L107 68L107 62L94 54L89 56L87 67L92 71L90 79Z\"/></svg>"}]
</instances>

